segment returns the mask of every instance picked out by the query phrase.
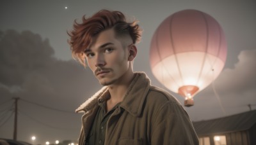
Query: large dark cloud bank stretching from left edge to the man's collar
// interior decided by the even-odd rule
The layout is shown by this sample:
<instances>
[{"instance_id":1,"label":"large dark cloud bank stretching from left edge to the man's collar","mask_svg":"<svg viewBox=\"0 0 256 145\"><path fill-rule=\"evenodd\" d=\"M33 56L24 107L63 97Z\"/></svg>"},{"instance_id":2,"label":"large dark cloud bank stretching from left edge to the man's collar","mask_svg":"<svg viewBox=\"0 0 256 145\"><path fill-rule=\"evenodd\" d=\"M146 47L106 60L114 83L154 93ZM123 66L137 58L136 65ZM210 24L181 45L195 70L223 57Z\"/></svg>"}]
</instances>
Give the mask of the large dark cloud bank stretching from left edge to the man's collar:
<instances>
[{"instance_id":1,"label":"large dark cloud bank stretching from left edge to the man's collar","mask_svg":"<svg viewBox=\"0 0 256 145\"><path fill-rule=\"evenodd\" d=\"M74 60L57 60L49 41L33 32L0 32L0 48L0 87L10 92L24 90L20 95L26 98L70 99L99 87L91 74L86 75L90 70Z\"/></svg>"}]
</instances>

